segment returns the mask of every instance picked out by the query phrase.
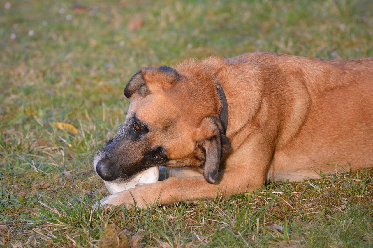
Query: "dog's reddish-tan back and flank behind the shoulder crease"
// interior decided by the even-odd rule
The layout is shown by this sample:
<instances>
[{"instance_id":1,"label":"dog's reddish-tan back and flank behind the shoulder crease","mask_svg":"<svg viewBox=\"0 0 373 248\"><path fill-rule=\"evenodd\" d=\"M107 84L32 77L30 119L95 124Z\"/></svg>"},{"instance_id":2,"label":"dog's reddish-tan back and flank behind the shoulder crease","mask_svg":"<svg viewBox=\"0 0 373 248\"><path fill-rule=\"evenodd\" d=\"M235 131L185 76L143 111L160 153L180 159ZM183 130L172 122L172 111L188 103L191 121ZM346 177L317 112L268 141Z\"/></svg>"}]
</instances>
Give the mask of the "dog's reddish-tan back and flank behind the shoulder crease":
<instances>
[{"instance_id":1,"label":"dog's reddish-tan back and flank behind the shoulder crease","mask_svg":"<svg viewBox=\"0 0 373 248\"><path fill-rule=\"evenodd\" d=\"M294 71L301 73L309 98L307 113L299 113L305 117L299 130L276 149L270 180L373 166L373 58L330 61L270 53L243 58L280 64L280 74L295 81Z\"/></svg>"}]
</instances>

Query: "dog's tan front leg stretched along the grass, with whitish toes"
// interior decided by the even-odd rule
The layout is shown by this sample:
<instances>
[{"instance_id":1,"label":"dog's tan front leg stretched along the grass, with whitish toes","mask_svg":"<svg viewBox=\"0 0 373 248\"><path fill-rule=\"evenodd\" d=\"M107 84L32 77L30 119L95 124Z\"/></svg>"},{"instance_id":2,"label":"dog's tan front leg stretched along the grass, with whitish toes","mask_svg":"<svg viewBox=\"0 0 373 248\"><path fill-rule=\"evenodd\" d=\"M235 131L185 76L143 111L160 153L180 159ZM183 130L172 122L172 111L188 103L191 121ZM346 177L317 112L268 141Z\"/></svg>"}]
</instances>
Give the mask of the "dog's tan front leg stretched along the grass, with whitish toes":
<instances>
[{"instance_id":1,"label":"dog's tan front leg stretched along the grass, with whitish toes","mask_svg":"<svg viewBox=\"0 0 373 248\"><path fill-rule=\"evenodd\" d=\"M226 169L219 172L214 184L208 183L203 176L170 177L164 181L141 184L130 190L109 195L100 203L103 207L119 204L131 207L135 204L147 208L147 206L167 205L178 201L194 202L204 198L212 199L217 196L226 197L251 192L264 185L272 158L272 149L265 145L264 140L257 139L257 142L253 142L251 139L245 142L248 143L247 145L242 144L226 160Z\"/></svg>"}]
</instances>

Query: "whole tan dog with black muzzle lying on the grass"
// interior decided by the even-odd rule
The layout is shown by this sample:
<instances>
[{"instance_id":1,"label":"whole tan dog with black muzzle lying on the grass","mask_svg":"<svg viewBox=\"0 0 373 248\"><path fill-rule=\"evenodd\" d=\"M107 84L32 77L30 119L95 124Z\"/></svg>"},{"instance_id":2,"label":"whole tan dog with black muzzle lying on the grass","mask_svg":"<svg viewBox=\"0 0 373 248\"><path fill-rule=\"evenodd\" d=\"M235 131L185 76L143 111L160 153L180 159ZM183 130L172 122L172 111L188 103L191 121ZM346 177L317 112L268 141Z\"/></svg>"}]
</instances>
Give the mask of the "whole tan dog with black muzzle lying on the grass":
<instances>
[{"instance_id":1,"label":"whole tan dog with black muzzle lying on the grass","mask_svg":"<svg viewBox=\"0 0 373 248\"><path fill-rule=\"evenodd\" d=\"M185 169L109 195L104 207L193 202L373 167L373 58L210 57L142 68L124 94L126 121L95 155L98 175L119 182L151 166Z\"/></svg>"}]
</instances>

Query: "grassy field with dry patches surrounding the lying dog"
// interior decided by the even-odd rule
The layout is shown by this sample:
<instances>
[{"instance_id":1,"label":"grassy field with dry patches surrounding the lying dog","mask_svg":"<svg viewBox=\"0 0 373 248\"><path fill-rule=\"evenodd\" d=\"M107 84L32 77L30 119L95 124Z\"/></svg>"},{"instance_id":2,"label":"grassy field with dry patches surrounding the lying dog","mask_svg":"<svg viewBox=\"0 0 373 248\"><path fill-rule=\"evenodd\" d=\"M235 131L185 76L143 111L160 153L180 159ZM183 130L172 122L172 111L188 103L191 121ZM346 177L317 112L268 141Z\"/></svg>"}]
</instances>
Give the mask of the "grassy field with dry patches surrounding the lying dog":
<instances>
[{"instance_id":1,"label":"grassy field with dry patches surrounding the lying dog","mask_svg":"<svg viewBox=\"0 0 373 248\"><path fill-rule=\"evenodd\" d=\"M372 57L371 0L72 3L0 1L1 247L373 246L369 170L199 205L91 208L108 194L93 153L124 121L140 67L254 51Z\"/></svg>"}]
</instances>

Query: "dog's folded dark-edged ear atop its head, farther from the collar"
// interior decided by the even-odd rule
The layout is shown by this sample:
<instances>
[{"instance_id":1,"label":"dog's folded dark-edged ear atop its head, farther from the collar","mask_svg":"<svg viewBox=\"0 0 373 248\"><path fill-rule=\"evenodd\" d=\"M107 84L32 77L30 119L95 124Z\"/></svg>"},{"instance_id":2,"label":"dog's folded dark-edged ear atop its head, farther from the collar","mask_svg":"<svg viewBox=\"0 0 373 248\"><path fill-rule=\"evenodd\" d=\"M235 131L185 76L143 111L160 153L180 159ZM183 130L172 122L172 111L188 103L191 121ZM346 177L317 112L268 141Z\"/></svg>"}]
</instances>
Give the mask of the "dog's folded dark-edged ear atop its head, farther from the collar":
<instances>
[{"instance_id":1,"label":"dog's folded dark-edged ear atop its head, farther from the collar","mask_svg":"<svg viewBox=\"0 0 373 248\"><path fill-rule=\"evenodd\" d=\"M130 98L137 92L140 96L147 96L151 93L150 88L152 86L167 90L172 88L179 78L179 73L168 66L160 66L159 68L144 67L131 77L124 88L124 95Z\"/></svg>"}]
</instances>

